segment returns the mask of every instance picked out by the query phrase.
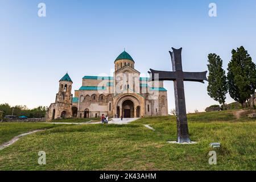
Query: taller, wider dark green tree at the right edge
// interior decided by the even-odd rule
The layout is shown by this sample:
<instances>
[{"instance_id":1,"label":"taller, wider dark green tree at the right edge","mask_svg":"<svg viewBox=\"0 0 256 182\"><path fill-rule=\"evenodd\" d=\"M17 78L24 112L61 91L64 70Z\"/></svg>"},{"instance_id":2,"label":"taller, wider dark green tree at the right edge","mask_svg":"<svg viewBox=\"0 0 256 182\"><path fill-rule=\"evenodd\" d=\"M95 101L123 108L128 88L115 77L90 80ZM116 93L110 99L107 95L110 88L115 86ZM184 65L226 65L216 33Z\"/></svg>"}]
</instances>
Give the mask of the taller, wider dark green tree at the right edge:
<instances>
[{"instance_id":1,"label":"taller, wider dark green tree at the right edge","mask_svg":"<svg viewBox=\"0 0 256 182\"><path fill-rule=\"evenodd\" d=\"M232 59L228 64L229 94L245 107L256 88L256 67L250 55L242 46L232 50Z\"/></svg>"}]
</instances>

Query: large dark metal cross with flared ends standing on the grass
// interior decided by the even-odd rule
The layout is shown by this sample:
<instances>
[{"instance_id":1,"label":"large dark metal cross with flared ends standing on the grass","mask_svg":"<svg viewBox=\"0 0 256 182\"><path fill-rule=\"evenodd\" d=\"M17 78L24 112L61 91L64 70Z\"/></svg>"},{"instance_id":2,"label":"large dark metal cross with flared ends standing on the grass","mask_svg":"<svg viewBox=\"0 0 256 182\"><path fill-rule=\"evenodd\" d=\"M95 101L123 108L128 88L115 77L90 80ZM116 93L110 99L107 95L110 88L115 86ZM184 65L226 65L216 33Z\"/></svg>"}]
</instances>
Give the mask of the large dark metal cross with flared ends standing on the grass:
<instances>
[{"instance_id":1,"label":"large dark metal cross with flared ends standing on the grass","mask_svg":"<svg viewBox=\"0 0 256 182\"><path fill-rule=\"evenodd\" d=\"M177 142L191 142L188 133L188 121L185 105L185 94L184 94L184 84L183 81L197 81L204 83L207 80L205 72L183 72L181 64L181 50L172 48L170 52L172 59L172 72L166 71L155 71L150 69L150 75L152 81L163 81L172 80L174 81L174 91L175 91L175 106L176 106L176 117L177 117ZM156 75L157 74L157 75Z\"/></svg>"}]
</instances>

